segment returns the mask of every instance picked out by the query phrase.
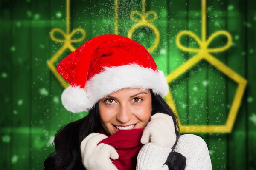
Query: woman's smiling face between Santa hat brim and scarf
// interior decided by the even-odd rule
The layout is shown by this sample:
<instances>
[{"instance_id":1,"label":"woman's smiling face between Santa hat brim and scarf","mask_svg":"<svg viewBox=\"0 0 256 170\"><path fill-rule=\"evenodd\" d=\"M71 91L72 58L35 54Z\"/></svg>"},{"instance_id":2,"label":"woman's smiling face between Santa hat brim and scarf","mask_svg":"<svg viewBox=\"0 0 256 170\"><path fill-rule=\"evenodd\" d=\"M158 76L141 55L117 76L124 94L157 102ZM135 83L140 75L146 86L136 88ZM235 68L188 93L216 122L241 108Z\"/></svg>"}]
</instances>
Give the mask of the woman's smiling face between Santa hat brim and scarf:
<instances>
[{"instance_id":1,"label":"woman's smiling face between Santa hat brim and scarf","mask_svg":"<svg viewBox=\"0 0 256 170\"><path fill-rule=\"evenodd\" d=\"M145 128L151 111L150 91L140 88L121 89L99 100L101 123L109 135L123 128Z\"/></svg>"}]
</instances>

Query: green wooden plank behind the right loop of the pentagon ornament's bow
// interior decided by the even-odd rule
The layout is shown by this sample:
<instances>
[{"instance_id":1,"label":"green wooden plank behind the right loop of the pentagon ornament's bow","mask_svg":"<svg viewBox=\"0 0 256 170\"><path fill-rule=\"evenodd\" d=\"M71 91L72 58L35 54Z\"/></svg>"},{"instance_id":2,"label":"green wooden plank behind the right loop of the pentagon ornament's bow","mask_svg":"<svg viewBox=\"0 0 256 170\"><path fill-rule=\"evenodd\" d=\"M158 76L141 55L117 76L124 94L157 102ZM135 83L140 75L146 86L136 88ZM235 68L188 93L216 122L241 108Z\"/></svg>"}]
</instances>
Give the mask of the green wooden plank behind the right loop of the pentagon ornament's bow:
<instances>
[{"instance_id":1,"label":"green wooden plank behind the right loop of the pentagon ornament's bow","mask_svg":"<svg viewBox=\"0 0 256 170\"><path fill-rule=\"evenodd\" d=\"M226 1L207 1L207 36L219 30L226 30L227 23L227 2ZM226 37L216 37L210 43L209 48L218 48L225 45ZM212 55L227 64L227 52L212 53ZM225 125L229 109L227 102L227 79L224 73L212 65L207 66L207 95L208 95L208 115L210 125ZM208 135L209 153L212 161L212 169L227 169L227 140L226 134L210 133Z\"/></svg>"}]
</instances>

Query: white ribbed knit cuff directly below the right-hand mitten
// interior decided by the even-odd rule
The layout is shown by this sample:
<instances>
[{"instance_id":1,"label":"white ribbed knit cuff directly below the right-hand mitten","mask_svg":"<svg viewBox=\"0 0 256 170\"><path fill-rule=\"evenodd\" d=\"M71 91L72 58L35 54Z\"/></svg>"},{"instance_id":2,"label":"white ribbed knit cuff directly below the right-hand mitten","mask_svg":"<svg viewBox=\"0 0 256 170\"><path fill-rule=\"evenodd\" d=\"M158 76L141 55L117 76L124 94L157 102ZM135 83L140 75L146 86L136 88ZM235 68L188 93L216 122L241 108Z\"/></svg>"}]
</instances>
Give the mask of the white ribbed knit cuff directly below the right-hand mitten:
<instances>
[{"instance_id":1,"label":"white ribbed knit cuff directly below the right-hand mitten","mask_svg":"<svg viewBox=\"0 0 256 170\"><path fill-rule=\"evenodd\" d=\"M137 157L136 170L168 170L164 164L172 149L157 147L147 143L143 145Z\"/></svg>"}]
</instances>

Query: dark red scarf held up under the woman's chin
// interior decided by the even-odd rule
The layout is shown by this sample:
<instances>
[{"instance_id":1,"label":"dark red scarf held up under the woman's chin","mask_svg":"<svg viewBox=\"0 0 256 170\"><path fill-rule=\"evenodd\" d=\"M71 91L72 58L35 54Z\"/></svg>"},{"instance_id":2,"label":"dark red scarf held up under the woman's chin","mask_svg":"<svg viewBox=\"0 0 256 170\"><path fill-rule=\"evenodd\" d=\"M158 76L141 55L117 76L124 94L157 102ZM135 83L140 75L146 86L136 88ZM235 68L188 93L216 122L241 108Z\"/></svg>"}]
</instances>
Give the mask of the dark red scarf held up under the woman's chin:
<instances>
[{"instance_id":1,"label":"dark red scarf held up under the woman's chin","mask_svg":"<svg viewBox=\"0 0 256 170\"><path fill-rule=\"evenodd\" d=\"M119 155L119 158L112 160L118 170L136 170L137 156L143 146L140 143L142 132L144 129L119 130L109 136L102 127L98 133L108 136L100 143L109 144L114 147Z\"/></svg>"}]
</instances>

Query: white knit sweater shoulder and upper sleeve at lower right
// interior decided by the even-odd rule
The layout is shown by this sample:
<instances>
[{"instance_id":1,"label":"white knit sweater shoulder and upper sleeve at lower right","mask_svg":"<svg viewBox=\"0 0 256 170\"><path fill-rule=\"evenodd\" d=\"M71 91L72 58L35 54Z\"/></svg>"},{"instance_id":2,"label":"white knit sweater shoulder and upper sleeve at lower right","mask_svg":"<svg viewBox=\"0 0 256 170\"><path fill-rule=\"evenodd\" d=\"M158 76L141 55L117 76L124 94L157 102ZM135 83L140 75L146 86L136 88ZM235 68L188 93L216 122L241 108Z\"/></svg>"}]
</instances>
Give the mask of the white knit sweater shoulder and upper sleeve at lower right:
<instances>
[{"instance_id":1,"label":"white knit sweater shoulder and upper sleeve at lower right","mask_svg":"<svg viewBox=\"0 0 256 170\"><path fill-rule=\"evenodd\" d=\"M207 144L200 136L181 135L174 150L186 157L185 170L212 170Z\"/></svg>"}]
</instances>

